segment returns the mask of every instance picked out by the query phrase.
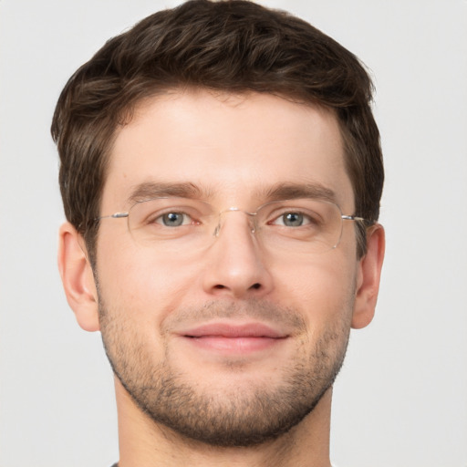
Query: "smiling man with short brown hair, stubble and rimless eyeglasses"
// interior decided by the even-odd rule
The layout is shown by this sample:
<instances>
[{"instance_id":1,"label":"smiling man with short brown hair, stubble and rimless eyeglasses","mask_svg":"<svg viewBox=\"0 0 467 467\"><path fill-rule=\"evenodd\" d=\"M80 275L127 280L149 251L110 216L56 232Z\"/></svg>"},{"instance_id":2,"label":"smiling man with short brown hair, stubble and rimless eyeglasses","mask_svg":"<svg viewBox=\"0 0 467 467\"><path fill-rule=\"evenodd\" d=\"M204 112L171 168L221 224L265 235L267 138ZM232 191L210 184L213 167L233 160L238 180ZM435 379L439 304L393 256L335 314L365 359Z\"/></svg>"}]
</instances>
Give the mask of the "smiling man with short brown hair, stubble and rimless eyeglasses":
<instances>
[{"instance_id":1,"label":"smiling man with short brown hair, stubble and rimless eyeglasses","mask_svg":"<svg viewBox=\"0 0 467 467\"><path fill-rule=\"evenodd\" d=\"M58 263L115 373L119 467L330 465L384 253L370 99L345 48L244 1L149 16L70 78Z\"/></svg>"}]
</instances>

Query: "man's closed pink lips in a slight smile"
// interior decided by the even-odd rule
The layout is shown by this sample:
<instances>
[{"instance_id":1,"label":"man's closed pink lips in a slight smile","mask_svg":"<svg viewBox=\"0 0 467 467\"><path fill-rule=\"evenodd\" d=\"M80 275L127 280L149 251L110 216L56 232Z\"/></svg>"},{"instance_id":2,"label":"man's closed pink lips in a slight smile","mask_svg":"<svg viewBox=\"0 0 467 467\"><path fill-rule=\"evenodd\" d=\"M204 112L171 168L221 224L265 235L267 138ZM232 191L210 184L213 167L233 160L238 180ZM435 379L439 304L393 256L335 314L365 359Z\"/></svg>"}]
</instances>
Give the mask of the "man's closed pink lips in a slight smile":
<instances>
[{"instance_id":1,"label":"man's closed pink lips in a slight smile","mask_svg":"<svg viewBox=\"0 0 467 467\"><path fill-rule=\"evenodd\" d=\"M274 348L288 337L262 323L210 323L181 334L192 346L226 354L246 354Z\"/></svg>"}]
</instances>

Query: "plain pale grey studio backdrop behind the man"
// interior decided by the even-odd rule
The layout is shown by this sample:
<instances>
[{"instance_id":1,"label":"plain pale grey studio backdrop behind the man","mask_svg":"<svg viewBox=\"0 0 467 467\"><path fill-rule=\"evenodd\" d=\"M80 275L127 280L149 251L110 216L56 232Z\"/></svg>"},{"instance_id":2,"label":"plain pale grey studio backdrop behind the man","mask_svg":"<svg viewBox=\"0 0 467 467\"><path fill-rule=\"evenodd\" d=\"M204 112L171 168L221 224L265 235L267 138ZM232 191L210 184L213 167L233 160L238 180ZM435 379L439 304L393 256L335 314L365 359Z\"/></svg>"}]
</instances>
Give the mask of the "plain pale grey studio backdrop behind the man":
<instances>
[{"instance_id":1,"label":"plain pale grey studio backdrop behind the man","mask_svg":"<svg viewBox=\"0 0 467 467\"><path fill-rule=\"evenodd\" d=\"M52 112L110 37L170 0L0 0L0 467L118 459L100 335L57 273ZM360 57L377 87L388 245L373 323L337 379L339 467L467 466L467 2L265 0Z\"/></svg>"}]
</instances>

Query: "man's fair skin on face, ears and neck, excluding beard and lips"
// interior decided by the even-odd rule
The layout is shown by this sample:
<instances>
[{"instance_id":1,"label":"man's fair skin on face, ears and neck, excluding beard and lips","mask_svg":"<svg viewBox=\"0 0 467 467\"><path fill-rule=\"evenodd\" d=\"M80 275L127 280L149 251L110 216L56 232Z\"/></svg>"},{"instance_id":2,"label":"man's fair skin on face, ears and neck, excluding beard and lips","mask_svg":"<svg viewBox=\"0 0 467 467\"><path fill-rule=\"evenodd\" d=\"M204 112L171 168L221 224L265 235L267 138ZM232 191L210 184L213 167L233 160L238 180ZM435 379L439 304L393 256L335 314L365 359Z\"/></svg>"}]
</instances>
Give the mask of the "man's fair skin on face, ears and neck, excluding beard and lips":
<instances>
[{"instance_id":1,"label":"man's fair skin on face, ears and neck, excluding beard and lips","mask_svg":"<svg viewBox=\"0 0 467 467\"><path fill-rule=\"evenodd\" d=\"M219 211L236 206L250 212L270 201L266 193L278 184L313 184L332 191L343 213L354 209L333 114L271 95L173 91L141 103L118 131L101 214L128 211L131 192L143 182L191 182ZM197 394L209 394L219 411L238 395L249 401L254 390L281 387L296 362L315 371L317 348L328 357L325 376L330 378L331 367L338 367L345 354L350 327L365 327L373 317L384 254L384 232L376 225L368 232L368 253L358 259L354 225L348 222L337 248L291 261L266 252L249 232L244 214L227 216L221 234L202 254L161 261L135 244L125 219L109 219L99 228L95 275L82 238L69 223L60 230L58 255L79 325L102 331L120 372L129 373L131 362L140 368L164 364ZM275 313L253 316L256 304ZM202 311L206 307L217 310L214 317ZM227 317L229 309L233 315ZM287 313L301 326L287 321ZM221 351L180 337L181 330L213 319L260 321L286 338L259 351ZM139 359L131 360L134 348ZM219 447L155 422L118 378L115 385L120 467L178 466L187 459L203 466L330 465L332 387L323 385L315 409L278 438Z\"/></svg>"}]
</instances>

